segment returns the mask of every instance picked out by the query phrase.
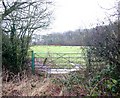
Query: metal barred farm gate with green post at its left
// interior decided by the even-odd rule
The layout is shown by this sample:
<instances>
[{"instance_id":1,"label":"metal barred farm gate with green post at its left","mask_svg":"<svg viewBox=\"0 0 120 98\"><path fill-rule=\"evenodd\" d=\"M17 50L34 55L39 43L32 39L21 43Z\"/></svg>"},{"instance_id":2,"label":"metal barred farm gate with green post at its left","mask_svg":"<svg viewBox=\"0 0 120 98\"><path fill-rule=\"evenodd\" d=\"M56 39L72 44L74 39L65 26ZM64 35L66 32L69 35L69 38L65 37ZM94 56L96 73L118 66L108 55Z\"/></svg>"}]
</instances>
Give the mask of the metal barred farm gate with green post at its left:
<instances>
[{"instance_id":1,"label":"metal barred farm gate with green post at its left","mask_svg":"<svg viewBox=\"0 0 120 98\"><path fill-rule=\"evenodd\" d=\"M48 69L73 69L86 64L86 54L77 52L41 53L32 51L32 72L35 68Z\"/></svg>"}]
</instances>

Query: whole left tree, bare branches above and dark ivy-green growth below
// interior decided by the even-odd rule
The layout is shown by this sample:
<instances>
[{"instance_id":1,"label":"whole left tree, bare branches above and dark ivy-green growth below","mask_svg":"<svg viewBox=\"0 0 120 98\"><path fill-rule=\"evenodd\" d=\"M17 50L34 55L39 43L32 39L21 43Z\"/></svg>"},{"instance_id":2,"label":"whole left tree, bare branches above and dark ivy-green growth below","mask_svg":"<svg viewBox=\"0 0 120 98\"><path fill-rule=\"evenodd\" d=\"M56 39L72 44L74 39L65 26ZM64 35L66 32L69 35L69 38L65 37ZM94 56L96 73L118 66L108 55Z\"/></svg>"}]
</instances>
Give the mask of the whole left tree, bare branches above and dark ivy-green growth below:
<instances>
[{"instance_id":1,"label":"whole left tree, bare branches above and dark ivy-green growth below","mask_svg":"<svg viewBox=\"0 0 120 98\"><path fill-rule=\"evenodd\" d=\"M18 2L2 0L2 65L17 74L25 69L31 36L51 21L51 2Z\"/></svg>"}]
</instances>

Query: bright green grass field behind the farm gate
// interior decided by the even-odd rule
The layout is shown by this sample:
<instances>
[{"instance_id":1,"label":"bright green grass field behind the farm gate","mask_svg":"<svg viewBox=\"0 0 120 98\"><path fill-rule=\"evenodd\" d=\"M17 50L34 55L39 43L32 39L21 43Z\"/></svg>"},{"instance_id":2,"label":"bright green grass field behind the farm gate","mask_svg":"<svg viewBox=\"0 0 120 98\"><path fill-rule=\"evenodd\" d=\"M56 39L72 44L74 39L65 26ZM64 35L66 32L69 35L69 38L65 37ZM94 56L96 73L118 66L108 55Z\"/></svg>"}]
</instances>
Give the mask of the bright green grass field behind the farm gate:
<instances>
[{"instance_id":1,"label":"bright green grass field behind the farm gate","mask_svg":"<svg viewBox=\"0 0 120 98\"><path fill-rule=\"evenodd\" d=\"M71 68L73 64L85 64L86 47L84 46L32 46L36 58L44 60L48 58L47 63L54 67ZM43 61L42 61L43 62Z\"/></svg>"}]
</instances>

